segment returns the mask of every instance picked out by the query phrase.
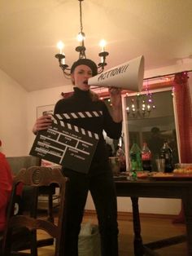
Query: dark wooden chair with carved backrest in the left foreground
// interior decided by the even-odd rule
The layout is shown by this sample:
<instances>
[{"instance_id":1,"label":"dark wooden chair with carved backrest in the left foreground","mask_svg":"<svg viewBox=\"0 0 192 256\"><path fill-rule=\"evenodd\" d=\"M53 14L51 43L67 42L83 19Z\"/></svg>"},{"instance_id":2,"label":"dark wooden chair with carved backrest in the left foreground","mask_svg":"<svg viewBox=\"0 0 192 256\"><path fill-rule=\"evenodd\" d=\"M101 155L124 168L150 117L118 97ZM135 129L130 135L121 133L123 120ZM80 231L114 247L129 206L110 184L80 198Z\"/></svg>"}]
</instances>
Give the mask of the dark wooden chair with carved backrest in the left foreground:
<instances>
[{"instance_id":1,"label":"dark wooden chair with carved backrest in the left foreground","mask_svg":"<svg viewBox=\"0 0 192 256\"><path fill-rule=\"evenodd\" d=\"M53 244L54 240L55 256L63 256L64 207L67 180L58 168L33 166L20 170L14 179L11 200L7 210L7 228L3 234L2 241L3 256L27 254L19 252L24 249L30 249L30 255L37 256L38 247ZM19 183L23 183L25 187L32 189L29 215L26 213L22 215L13 214L16 188ZM37 214L38 190L50 186L59 187L60 202L57 224L47 218L39 217ZM39 229L49 234L51 236L50 239L37 240L37 230Z\"/></svg>"}]
</instances>

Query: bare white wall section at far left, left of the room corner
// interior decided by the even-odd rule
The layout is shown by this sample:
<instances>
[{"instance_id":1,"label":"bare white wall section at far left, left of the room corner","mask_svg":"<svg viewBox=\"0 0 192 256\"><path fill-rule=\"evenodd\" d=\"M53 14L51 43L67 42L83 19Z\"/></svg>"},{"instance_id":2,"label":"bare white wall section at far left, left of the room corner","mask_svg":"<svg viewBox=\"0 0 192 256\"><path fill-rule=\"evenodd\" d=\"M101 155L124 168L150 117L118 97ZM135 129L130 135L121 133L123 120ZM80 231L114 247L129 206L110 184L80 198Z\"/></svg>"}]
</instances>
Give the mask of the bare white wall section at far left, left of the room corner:
<instances>
[{"instance_id":1,"label":"bare white wall section at far left, left of the room corner","mask_svg":"<svg viewBox=\"0 0 192 256\"><path fill-rule=\"evenodd\" d=\"M27 151L27 92L0 70L0 139L7 157L24 156Z\"/></svg>"}]
</instances>

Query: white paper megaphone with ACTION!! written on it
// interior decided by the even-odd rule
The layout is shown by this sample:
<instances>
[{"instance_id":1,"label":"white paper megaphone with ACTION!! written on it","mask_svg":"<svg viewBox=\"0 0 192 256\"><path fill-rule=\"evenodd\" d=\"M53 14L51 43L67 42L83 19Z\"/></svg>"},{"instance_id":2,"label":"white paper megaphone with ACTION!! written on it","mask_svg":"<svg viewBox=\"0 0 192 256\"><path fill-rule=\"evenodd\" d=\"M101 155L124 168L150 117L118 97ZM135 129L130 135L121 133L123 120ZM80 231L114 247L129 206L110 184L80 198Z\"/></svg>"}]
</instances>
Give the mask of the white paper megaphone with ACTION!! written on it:
<instances>
[{"instance_id":1,"label":"white paper megaphone with ACTION!! written on it","mask_svg":"<svg viewBox=\"0 0 192 256\"><path fill-rule=\"evenodd\" d=\"M89 86L119 87L126 90L141 91L144 76L144 57L120 64L115 68L90 77Z\"/></svg>"}]
</instances>

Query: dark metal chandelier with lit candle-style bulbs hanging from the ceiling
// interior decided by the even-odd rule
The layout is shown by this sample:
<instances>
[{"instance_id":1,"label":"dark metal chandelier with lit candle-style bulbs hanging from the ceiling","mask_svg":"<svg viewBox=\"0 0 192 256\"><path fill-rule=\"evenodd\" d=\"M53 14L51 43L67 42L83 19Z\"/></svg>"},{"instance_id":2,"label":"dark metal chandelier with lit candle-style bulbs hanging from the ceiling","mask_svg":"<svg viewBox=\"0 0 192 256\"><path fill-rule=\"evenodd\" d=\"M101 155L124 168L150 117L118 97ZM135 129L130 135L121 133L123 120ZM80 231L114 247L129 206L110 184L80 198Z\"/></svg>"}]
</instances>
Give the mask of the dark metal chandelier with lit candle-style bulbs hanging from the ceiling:
<instances>
[{"instance_id":1,"label":"dark metal chandelier with lit candle-style bulbs hanging from the ceiling","mask_svg":"<svg viewBox=\"0 0 192 256\"><path fill-rule=\"evenodd\" d=\"M83 0L79 1L79 7L80 7L80 32L77 35L77 41L79 42L79 46L76 46L76 51L79 52L79 59L86 59L85 55L85 33L83 32L83 23L82 23L82 10L81 10L81 2ZM101 40L99 45L102 47L102 51L98 54L99 57L101 57L101 62L98 63L98 73L102 73L104 70L104 67L107 65L106 63L106 57L109 55L107 51L105 51L106 42L105 40ZM65 63L65 55L63 54L63 42L58 42L57 44L59 48L59 53L55 55L55 58L59 60L59 67L62 68L64 77L69 78L70 76L70 70L71 68L68 67L68 64Z\"/></svg>"}]
</instances>

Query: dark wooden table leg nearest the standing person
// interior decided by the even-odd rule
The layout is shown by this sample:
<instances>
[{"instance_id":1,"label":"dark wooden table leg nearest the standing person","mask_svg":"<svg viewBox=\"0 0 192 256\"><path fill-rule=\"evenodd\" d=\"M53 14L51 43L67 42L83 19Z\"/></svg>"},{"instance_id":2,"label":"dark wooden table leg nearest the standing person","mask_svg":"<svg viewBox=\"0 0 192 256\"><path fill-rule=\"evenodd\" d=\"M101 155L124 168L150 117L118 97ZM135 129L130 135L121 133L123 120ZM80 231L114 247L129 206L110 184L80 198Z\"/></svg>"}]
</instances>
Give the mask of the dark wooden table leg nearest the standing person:
<instances>
[{"instance_id":1,"label":"dark wooden table leg nearest the standing person","mask_svg":"<svg viewBox=\"0 0 192 256\"><path fill-rule=\"evenodd\" d=\"M141 236L141 224L138 210L138 197L131 197L133 208L133 231L134 231L134 255L143 255L143 245Z\"/></svg>"}]
</instances>

